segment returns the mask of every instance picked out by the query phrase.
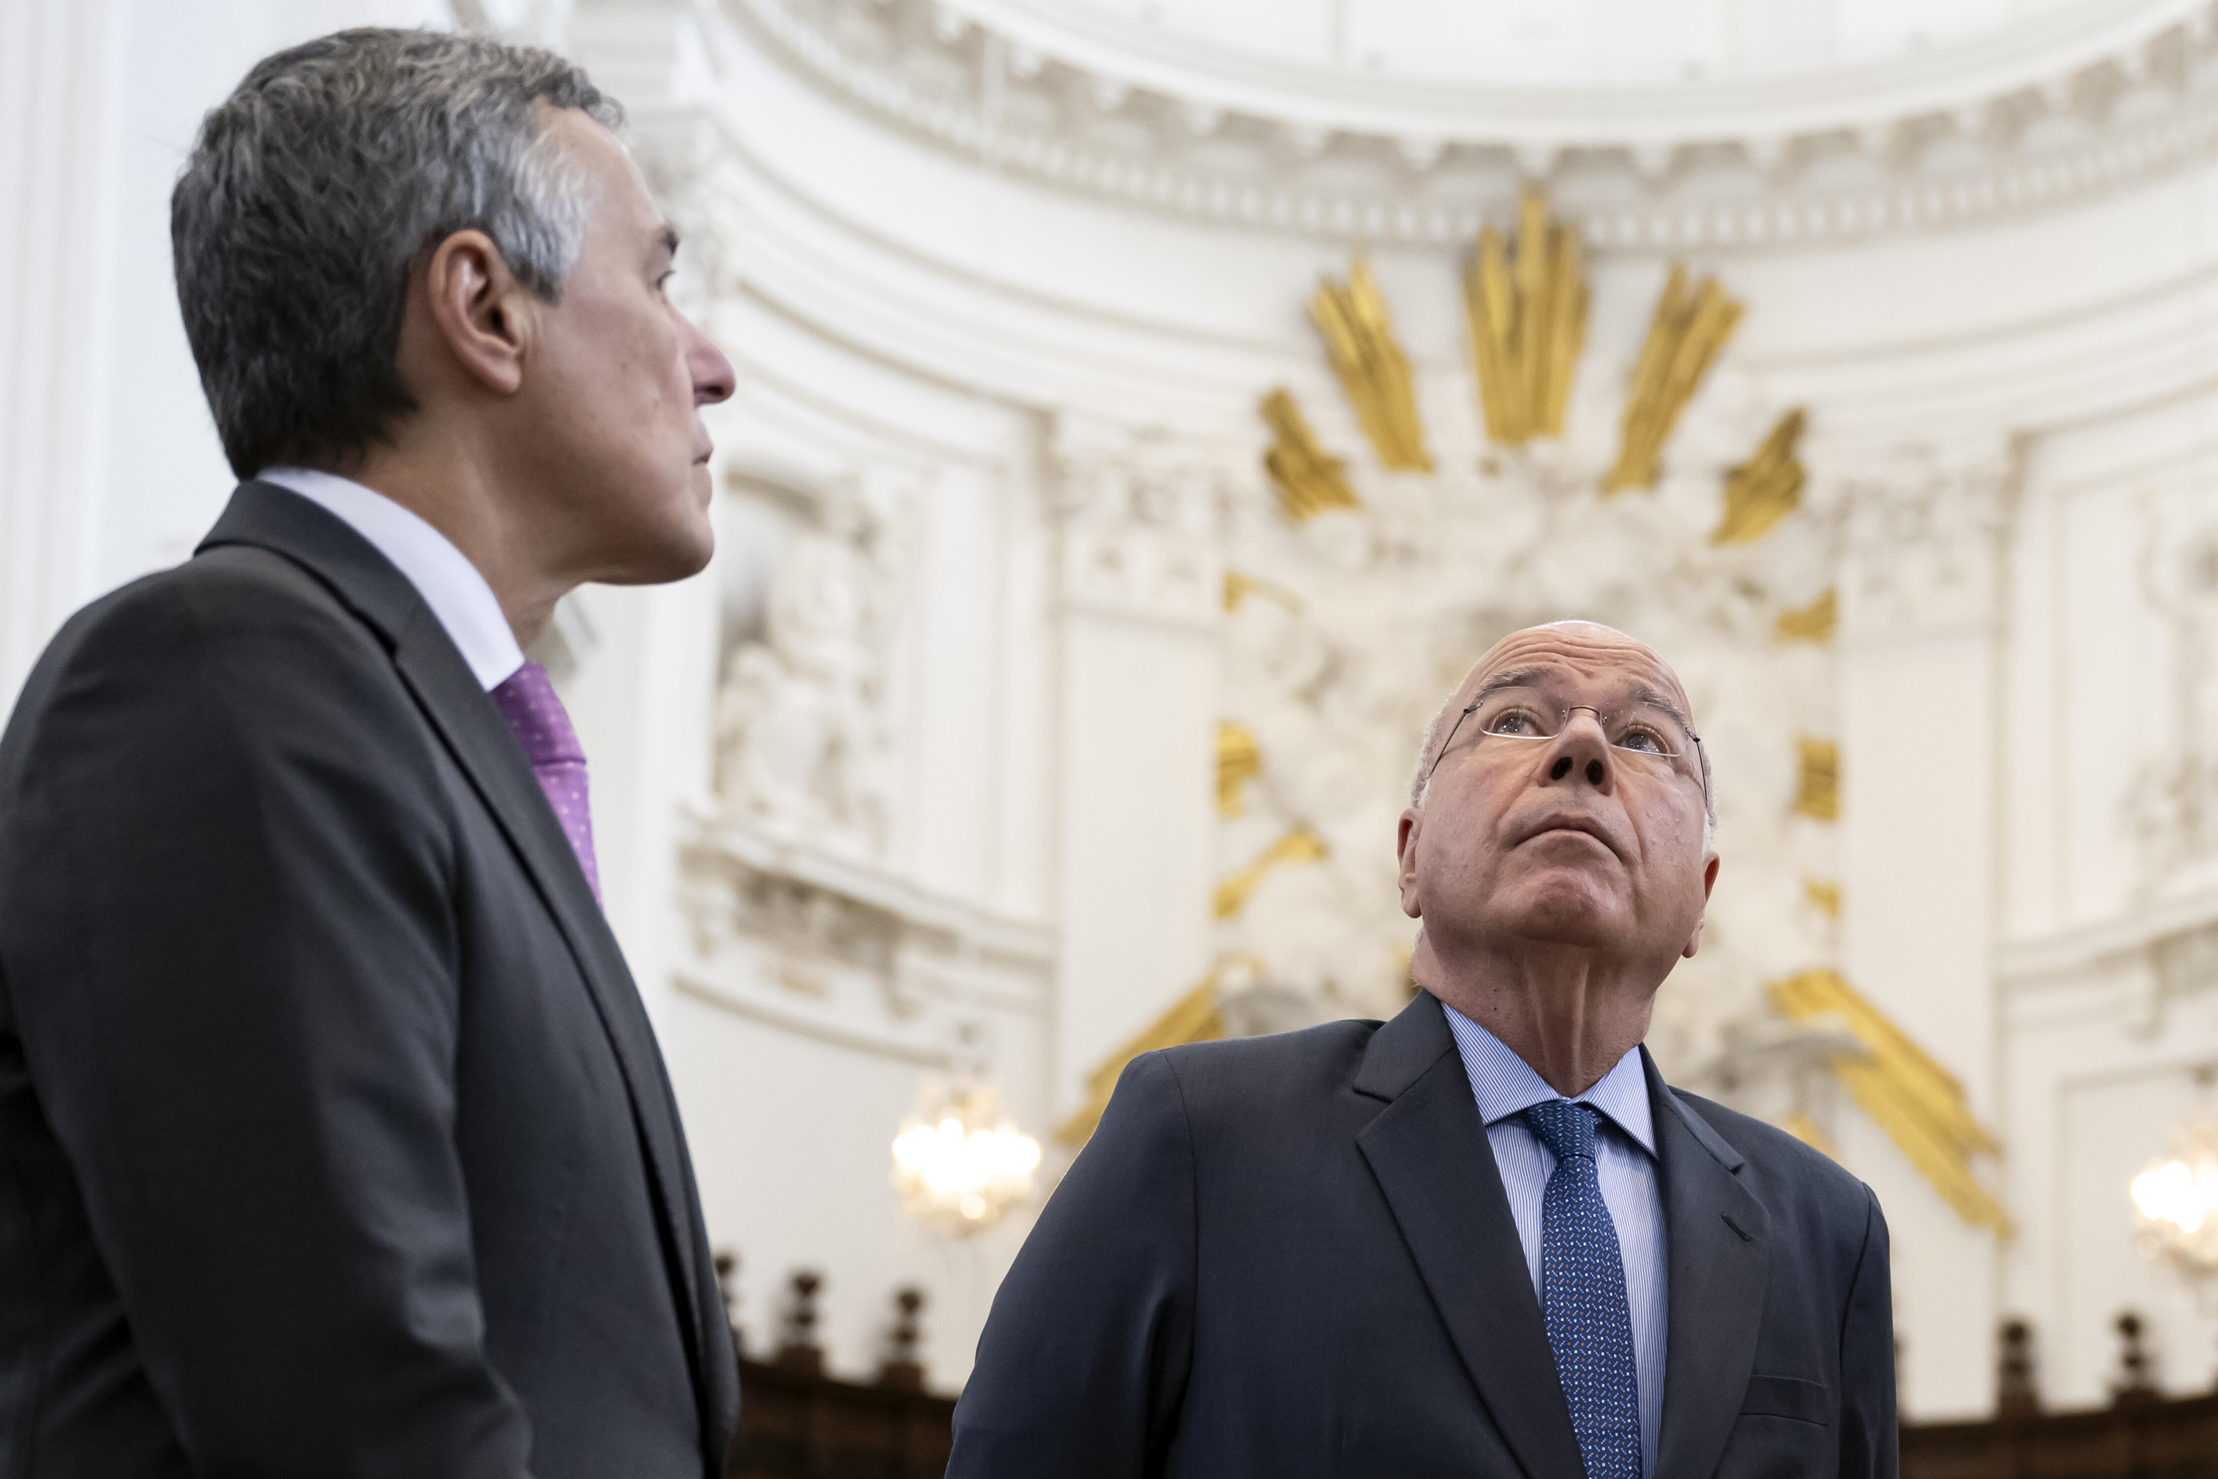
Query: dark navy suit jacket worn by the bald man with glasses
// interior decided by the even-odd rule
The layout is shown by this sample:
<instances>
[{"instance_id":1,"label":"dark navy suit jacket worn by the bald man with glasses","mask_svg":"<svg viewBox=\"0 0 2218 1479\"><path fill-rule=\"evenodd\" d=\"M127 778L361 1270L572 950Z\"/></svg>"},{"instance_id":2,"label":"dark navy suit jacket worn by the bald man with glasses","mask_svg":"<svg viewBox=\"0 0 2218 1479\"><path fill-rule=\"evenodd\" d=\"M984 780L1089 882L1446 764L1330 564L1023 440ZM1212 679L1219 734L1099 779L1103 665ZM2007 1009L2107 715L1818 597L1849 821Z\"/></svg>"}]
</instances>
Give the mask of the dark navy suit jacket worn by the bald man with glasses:
<instances>
[{"instance_id":1,"label":"dark navy suit jacket worn by the bald man with glasses","mask_svg":"<svg viewBox=\"0 0 2218 1479\"><path fill-rule=\"evenodd\" d=\"M1646 1051L1668 1322L1652 1479L1894 1475L1888 1228ZM949 1479L1579 1479L1431 996L1138 1058L1009 1271Z\"/></svg>"}]
</instances>

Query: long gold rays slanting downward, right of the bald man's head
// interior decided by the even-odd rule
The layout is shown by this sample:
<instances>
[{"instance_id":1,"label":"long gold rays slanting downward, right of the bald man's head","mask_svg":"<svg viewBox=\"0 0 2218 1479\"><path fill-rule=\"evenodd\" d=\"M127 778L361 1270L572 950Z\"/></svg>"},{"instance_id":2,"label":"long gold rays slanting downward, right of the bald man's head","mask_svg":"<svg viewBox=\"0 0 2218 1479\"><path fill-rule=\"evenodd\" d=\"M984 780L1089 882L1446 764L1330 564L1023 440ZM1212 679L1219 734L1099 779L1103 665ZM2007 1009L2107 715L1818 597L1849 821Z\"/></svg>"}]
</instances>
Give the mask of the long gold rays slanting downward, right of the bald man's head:
<instances>
[{"instance_id":1,"label":"long gold rays slanting downward, right of the bald man's head","mask_svg":"<svg viewBox=\"0 0 2218 1479\"><path fill-rule=\"evenodd\" d=\"M1856 1036L1872 1055L1837 1060L1841 1087L1958 1217L2010 1237L2010 1213L1972 1177L1972 1155L2001 1155L2003 1146L1965 1109L1963 1084L1837 971L1803 971L1772 982L1770 993L1797 1022L1839 1018Z\"/></svg>"}]
</instances>

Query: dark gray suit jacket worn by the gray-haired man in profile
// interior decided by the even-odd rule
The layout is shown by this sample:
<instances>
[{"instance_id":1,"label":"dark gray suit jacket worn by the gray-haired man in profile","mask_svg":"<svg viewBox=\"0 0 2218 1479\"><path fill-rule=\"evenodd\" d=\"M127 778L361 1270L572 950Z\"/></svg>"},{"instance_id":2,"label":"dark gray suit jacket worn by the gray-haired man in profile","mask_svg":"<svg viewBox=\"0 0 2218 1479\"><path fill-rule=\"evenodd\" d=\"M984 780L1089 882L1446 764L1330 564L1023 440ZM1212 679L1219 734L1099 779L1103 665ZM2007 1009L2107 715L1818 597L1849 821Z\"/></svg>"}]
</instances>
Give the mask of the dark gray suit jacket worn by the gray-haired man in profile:
<instances>
[{"instance_id":1,"label":"dark gray suit jacket worn by the gray-haired man in profile","mask_svg":"<svg viewBox=\"0 0 2218 1479\"><path fill-rule=\"evenodd\" d=\"M0 741L0 1477L716 1475L639 991L499 710L246 483Z\"/></svg>"}]
</instances>

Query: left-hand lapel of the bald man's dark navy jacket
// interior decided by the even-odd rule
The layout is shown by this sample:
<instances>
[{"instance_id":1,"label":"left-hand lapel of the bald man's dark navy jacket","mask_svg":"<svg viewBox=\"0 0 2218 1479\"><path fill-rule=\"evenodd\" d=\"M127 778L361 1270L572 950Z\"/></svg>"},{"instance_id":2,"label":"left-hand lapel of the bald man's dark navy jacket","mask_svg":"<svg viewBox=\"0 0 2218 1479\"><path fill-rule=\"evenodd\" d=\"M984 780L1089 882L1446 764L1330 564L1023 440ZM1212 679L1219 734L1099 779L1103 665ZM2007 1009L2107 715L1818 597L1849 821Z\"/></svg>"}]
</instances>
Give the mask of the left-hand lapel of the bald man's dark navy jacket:
<instances>
[{"instance_id":1,"label":"left-hand lapel of the bald man's dark navy jacket","mask_svg":"<svg viewBox=\"0 0 2218 1479\"><path fill-rule=\"evenodd\" d=\"M1388 1100L1355 1144L1495 1428L1530 1479L1579 1479L1517 1222L1439 1002L1420 993L1373 1033L1355 1091Z\"/></svg>"}]
</instances>

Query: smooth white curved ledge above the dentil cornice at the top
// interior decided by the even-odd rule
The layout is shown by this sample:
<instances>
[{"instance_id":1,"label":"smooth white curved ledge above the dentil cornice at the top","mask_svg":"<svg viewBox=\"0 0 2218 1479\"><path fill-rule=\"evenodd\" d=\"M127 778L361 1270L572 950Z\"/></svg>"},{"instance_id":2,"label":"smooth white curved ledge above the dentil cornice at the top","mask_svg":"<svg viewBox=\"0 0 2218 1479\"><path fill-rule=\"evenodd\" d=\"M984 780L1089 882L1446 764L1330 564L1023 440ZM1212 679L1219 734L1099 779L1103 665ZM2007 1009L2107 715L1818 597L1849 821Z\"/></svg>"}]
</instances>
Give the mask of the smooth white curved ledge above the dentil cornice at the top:
<instances>
[{"instance_id":1,"label":"smooth white curved ledge above the dentil cornice at the top","mask_svg":"<svg viewBox=\"0 0 2218 1479\"><path fill-rule=\"evenodd\" d=\"M1872 53L1870 33L1841 47L1839 18L1828 24L1821 13L1832 0L1766 0L1761 20L1819 33L1805 31L1788 49L1748 47L1748 31L1761 27L1746 13L1723 35L1710 31L1715 9L1703 0L1646 0L1617 16L1608 0L1561 0L1535 7L1548 11L1533 16L1539 24L1524 24L1515 7L1406 0L1340 0L1337 24L1295 7L1275 27L1271 0L1131 9L1129 0L932 0L943 40L976 27L1009 42L1016 75L1040 75L1054 62L1184 100L1200 113L1196 133L1249 113L1382 137L1542 144L1883 126L1965 98L2054 89L2096 58L2136 58L2151 35L2207 22L2209 4L2032 0L2007 7L2007 18L1990 11L1972 22L1961 11L1974 7L1934 0L1925 40L1892 55ZM1240 11L1247 27L1231 24ZM1659 24L1632 40L1628 20ZM1586 27L1610 27L1612 35L1570 40ZM1329 31L1340 31L1337 42ZM1533 44L1546 31L1555 31L1553 55ZM1936 31L1954 35L1934 40Z\"/></svg>"}]
</instances>

